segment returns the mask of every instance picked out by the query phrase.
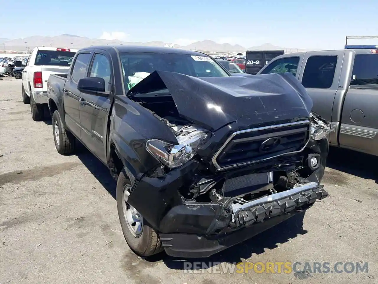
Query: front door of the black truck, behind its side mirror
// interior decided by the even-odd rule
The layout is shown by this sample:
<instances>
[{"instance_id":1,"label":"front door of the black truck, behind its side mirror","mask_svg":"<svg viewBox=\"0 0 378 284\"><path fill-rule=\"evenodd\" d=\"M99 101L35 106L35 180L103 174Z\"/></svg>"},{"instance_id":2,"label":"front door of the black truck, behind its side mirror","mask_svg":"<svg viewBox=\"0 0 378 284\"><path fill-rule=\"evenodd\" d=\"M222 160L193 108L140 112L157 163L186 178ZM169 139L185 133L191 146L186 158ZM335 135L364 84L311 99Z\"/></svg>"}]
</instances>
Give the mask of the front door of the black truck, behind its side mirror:
<instances>
[{"instance_id":1,"label":"front door of the black truck, behind its side mirror","mask_svg":"<svg viewBox=\"0 0 378 284\"><path fill-rule=\"evenodd\" d=\"M112 60L107 53L95 50L88 76L103 78L107 89L103 93L81 92L79 103L81 139L93 154L106 163L107 122L114 86Z\"/></svg>"}]
</instances>

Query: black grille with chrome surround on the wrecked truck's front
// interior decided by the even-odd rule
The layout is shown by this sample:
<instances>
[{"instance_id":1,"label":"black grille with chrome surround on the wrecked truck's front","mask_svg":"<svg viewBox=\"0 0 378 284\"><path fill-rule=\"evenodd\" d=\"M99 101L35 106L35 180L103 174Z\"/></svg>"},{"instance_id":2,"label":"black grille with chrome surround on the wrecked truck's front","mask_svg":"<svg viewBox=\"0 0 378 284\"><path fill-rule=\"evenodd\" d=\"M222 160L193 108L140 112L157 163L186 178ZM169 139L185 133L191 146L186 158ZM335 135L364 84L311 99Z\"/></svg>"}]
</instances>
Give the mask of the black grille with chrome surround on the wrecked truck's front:
<instances>
[{"instance_id":1,"label":"black grille with chrome surround on the wrecked truck's front","mask_svg":"<svg viewBox=\"0 0 378 284\"><path fill-rule=\"evenodd\" d=\"M308 120L237 131L215 153L218 170L253 164L302 151L310 139Z\"/></svg>"}]
</instances>

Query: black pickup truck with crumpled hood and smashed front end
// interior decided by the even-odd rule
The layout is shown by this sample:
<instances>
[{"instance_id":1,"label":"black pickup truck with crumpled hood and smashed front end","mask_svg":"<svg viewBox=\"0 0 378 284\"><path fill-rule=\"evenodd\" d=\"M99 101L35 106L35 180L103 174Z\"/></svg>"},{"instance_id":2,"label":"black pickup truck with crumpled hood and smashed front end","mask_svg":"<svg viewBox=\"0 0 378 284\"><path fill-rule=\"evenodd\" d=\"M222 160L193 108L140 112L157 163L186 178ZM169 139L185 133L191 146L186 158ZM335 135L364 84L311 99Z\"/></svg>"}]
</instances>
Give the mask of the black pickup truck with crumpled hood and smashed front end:
<instances>
[{"instance_id":1,"label":"black pickup truck with crumpled hood and smashed front end","mask_svg":"<svg viewBox=\"0 0 378 284\"><path fill-rule=\"evenodd\" d=\"M98 46L51 75L57 151L75 137L110 169L140 256L207 257L304 212L329 125L291 74L231 76L199 52Z\"/></svg>"}]
</instances>

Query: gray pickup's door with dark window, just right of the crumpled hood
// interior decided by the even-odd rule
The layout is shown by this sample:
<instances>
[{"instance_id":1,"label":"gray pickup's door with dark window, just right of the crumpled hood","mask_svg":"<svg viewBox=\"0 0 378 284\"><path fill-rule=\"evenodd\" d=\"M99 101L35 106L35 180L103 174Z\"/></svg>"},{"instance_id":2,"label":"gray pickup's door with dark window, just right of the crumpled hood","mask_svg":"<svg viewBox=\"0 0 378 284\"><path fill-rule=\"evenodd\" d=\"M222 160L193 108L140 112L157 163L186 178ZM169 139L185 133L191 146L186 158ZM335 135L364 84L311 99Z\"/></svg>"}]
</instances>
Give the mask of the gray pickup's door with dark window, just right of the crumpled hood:
<instances>
[{"instance_id":1,"label":"gray pickup's door with dark window, just right of the crumpled hood","mask_svg":"<svg viewBox=\"0 0 378 284\"><path fill-rule=\"evenodd\" d=\"M332 122L333 103L339 86L344 59L344 50L308 52L304 57L299 81L307 89L314 102L313 111L328 122ZM329 136L331 144L336 145L336 135Z\"/></svg>"}]
</instances>

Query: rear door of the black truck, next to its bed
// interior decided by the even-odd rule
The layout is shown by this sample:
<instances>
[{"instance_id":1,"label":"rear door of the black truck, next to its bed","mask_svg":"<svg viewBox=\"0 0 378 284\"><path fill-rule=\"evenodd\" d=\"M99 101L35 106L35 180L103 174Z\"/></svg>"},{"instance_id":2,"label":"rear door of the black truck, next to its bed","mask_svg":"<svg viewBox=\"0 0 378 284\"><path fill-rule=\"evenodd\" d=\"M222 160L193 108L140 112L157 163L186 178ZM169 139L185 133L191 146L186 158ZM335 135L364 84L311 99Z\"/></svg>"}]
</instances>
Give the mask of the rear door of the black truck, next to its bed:
<instances>
[{"instance_id":1,"label":"rear door of the black truck, next to its bed","mask_svg":"<svg viewBox=\"0 0 378 284\"><path fill-rule=\"evenodd\" d=\"M76 56L63 89L65 123L76 137L81 137L79 114L80 91L77 89L77 82L80 78L87 75L90 58L91 50L85 50Z\"/></svg>"}]
</instances>

